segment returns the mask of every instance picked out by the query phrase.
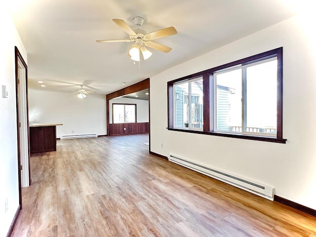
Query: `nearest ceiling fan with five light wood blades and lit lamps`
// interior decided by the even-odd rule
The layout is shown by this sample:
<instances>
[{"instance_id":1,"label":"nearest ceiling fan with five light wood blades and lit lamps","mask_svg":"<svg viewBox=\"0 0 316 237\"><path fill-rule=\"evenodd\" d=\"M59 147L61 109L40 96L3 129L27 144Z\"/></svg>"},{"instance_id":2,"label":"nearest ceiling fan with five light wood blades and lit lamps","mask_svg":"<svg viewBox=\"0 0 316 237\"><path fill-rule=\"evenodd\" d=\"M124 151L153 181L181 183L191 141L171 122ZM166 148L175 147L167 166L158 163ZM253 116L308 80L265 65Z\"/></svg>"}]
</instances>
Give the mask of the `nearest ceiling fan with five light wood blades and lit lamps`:
<instances>
[{"instance_id":1,"label":"nearest ceiling fan with five light wood blades and lit lamps","mask_svg":"<svg viewBox=\"0 0 316 237\"><path fill-rule=\"evenodd\" d=\"M155 31L152 33L148 33L144 30L139 29L140 26L144 23L144 18L141 16L136 16L133 18L133 22L136 25L137 29L132 30L125 21L120 19L112 19L123 31L125 31L129 35L129 39L126 40L96 40L98 43L113 43L113 42L134 42L132 47L129 50L129 55L132 60L140 61L140 52L143 55L143 58L146 60L150 56L152 56L152 52L150 52L145 46L150 48L154 48L156 50L162 52L170 52L171 48L160 43L154 42L152 40L156 40L162 37L172 36L177 34L176 29L174 27L164 28L159 31Z\"/></svg>"}]
</instances>

